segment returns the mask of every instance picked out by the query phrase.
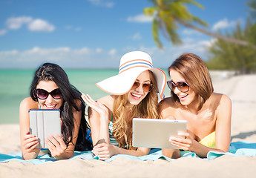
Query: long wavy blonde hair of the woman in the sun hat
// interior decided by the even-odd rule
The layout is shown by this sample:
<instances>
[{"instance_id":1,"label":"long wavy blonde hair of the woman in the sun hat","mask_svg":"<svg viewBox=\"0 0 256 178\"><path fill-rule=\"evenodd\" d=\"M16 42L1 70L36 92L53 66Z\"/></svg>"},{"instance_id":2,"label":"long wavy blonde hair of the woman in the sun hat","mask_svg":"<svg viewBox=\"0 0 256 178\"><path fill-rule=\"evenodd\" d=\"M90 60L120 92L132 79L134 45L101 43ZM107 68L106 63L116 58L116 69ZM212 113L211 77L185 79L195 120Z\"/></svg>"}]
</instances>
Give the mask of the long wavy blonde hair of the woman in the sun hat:
<instances>
[{"instance_id":1,"label":"long wavy blonde hair of the woman in the sun hat","mask_svg":"<svg viewBox=\"0 0 256 178\"><path fill-rule=\"evenodd\" d=\"M134 117L159 118L159 114L157 112L157 82L154 79L154 74L150 70L148 71L151 84L154 85L154 88L138 105L134 105L134 107L131 108L131 115L129 118L125 118L125 108L128 102L127 93L124 95L114 96L113 117L115 122L113 123L113 136L121 148L125 148L125 145L127 145L129 150L137 150L137 148L132 146L132 119ZM128 122L126 120L128 120Z\"/></svg>"}]
</instances>

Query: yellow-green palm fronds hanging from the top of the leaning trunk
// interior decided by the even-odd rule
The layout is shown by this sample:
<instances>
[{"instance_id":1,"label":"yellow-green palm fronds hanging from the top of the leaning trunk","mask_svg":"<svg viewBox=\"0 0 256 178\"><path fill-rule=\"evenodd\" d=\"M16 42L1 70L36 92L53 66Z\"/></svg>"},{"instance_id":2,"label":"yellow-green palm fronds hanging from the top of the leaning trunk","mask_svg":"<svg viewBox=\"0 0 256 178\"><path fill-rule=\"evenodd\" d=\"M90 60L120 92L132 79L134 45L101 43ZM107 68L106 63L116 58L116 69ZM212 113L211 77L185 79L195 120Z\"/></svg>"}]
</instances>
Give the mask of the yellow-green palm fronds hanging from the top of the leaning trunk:
<instances>
[{"instance_id":1,"label":"yellow-green palm fronds hanging from the top of the leaning trunk","mask_svg":"<svg viewBox=\"0 0 256 178\"><path fill-rule=\"evenodd\" d=\"M186 4L194 4L203 9L203 6L193 0L150 0L154 7L146 7L143 13L154 18L152 23L152 33L154 42L157 46L163 48L159 39L159 30L163 32L166 39L173 44L181 44L179 34L177 33L177 24L180 23L197 23L205 27L206 22L189 13Z\"/></svg>"}]
</instances>

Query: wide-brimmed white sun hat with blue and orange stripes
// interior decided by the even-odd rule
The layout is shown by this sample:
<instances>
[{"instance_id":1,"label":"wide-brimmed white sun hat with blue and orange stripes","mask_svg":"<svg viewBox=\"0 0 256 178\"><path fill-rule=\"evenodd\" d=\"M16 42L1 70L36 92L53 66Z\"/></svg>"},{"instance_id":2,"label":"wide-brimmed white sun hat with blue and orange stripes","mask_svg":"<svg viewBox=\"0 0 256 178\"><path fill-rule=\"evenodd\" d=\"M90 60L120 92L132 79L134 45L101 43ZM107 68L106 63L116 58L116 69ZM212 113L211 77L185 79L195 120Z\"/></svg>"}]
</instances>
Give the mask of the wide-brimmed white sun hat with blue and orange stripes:
<instances>
[{"instance_id":1,"label":"wide-brimmed white sun hat with blue and orange stripes","mask_svg":"<svg viewBox=\"0 0 256 178\"><path fill-rule=\"evenodd\" d=\"M153 67L151 56L142 51L125 53L120 60L118 75L102 80L96 83L96 86L107 93L122 95L131 90L137 77L145 70L151 70L154 74L154 78L157 81L158 93L160 93L160 98L164 99L165 73L160 68Z\"/></svg>"}]
</instances>

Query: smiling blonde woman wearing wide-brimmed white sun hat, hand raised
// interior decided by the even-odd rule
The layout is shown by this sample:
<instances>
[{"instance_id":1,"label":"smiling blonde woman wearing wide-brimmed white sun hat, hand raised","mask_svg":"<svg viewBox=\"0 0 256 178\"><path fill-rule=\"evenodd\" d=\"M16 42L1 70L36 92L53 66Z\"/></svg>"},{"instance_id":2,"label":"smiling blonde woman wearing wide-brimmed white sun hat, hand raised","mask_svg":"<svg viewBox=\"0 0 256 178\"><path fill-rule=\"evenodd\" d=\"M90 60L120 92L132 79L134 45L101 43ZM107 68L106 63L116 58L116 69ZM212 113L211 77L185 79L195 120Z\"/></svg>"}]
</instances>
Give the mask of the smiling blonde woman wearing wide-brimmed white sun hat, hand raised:
<instances>
[{"instance_id":1,"label":"smiling blonde woman wearing wide-brimmed white sun hat, hand raised","mask_svg":"<svg viewBox=\"0 0 256 178\"><path fill-rule=\"evenodd\" d=\"M159 118L158 96L163 99L166 76L154 68L151 56L132 51L122 56L119 73L96 85L111 95L96 102L82 94L88 108L93 154L105 160L116 154L142 156L150 148L132 147L132 119Z\"/></svg>"}]
</instances>

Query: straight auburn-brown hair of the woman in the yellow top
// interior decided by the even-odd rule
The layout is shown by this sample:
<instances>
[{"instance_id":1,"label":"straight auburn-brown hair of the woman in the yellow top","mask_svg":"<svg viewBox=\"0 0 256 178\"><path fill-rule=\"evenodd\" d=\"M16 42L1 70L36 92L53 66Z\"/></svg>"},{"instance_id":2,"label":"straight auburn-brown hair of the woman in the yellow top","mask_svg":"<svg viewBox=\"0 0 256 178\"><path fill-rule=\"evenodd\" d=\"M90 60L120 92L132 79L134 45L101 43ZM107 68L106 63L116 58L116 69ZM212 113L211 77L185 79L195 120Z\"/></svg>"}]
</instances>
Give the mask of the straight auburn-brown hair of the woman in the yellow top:
<instances>
[{"instance_id":1,"label":"straight auburn-brown hair of the woman in the yellow top","mask_svg":"<svg viewBox=\"0 0 256 178\"><path fill-rule=\"evenodd\" d=\"M199 100L197 111L200 111L203 104L214 91L211 76L206 64L199 56L193 53L183 53L168 67L168 73L170 73L171 69L180 73L188 83L189 88L197 94ZM181 105L180 99L172 90L171 96L171 99L173 99L176 105Z\"/></svg>"}]
</instances>

